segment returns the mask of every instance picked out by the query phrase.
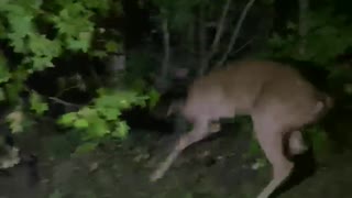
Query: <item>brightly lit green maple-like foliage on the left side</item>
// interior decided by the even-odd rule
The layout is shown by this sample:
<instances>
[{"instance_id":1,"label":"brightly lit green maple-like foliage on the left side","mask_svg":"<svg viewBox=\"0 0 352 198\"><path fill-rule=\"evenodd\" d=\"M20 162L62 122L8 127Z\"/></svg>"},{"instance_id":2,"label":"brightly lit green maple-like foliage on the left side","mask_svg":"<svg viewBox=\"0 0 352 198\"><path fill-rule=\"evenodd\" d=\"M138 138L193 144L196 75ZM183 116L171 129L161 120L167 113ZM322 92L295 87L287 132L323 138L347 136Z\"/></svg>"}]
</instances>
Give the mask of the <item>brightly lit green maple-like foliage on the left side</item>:
<instances>
[{"instance_id":1,"label":"brightly lit green maple-like foliage on the left side","mask_svg":"<svg viewBox=\"0 0 352 198\"><path fill-rule=\"evenodd\" d=\"M59 67L55 61L67 54L103 58L121 51L119 33L101 40L106 29L99 22L111 13L122 14L120 1L0 1L0 42L6 52L0 54L0 101L16 107L7 117L13 132L25 131L30 116L41 117L48 110L46 98L25 85L32 74ZM106 136L123 139L129 128L119 116L124 109L145 106L148 97L142 91L101 88L89 105L64 114L58 123L81 132L85 143L78 152L95 148ZM30 113L19 100L21 92L29 94Z\"/></svg>"}]
</instances>

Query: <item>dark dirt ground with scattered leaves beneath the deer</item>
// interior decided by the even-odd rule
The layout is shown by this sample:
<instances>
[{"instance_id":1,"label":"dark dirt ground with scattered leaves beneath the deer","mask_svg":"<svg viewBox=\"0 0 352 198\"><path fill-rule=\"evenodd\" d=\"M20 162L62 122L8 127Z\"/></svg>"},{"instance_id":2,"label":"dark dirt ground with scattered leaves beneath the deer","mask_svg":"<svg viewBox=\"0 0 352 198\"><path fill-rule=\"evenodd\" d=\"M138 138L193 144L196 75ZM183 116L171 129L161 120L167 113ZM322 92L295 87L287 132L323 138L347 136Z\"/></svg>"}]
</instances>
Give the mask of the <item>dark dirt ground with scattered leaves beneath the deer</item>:
<instances>
[{"instance_id":1,"label":"dark dirt ground with scattered leaves beneath the deer","mask_svg":"<svg viewBox=\"0 0 352 198\"><path fill-rule=\"evenodd\" d=\"M67 138L42 136L26 147L38 156L40 178L31 180L25 165L13 167L0 175L0 198L254 198L271 179L271 169L261 152L248 155L251 130L233 128L226 124L221 133L187 148L156 183L148 176L177 135L132 131L122 144L72 157L59 150L69 151ZM298 167L308 166L305 161ZM352 197L351 167L352 152L330 152L317 158L314 174L297 174L305 179L277 197Z\"/></svg>"}]
</instances>

